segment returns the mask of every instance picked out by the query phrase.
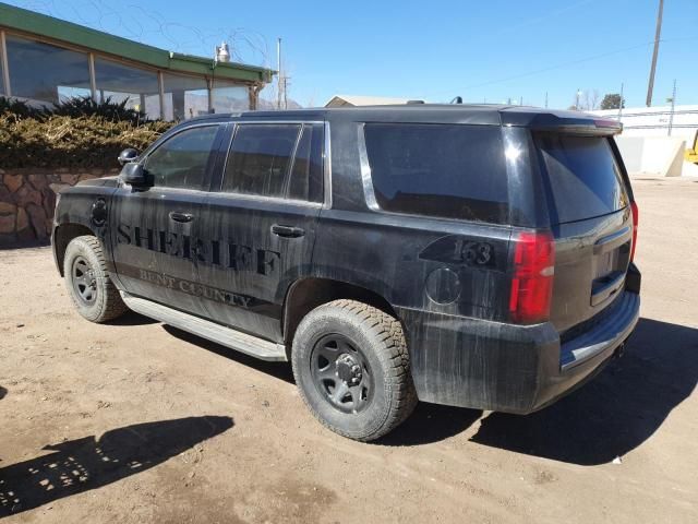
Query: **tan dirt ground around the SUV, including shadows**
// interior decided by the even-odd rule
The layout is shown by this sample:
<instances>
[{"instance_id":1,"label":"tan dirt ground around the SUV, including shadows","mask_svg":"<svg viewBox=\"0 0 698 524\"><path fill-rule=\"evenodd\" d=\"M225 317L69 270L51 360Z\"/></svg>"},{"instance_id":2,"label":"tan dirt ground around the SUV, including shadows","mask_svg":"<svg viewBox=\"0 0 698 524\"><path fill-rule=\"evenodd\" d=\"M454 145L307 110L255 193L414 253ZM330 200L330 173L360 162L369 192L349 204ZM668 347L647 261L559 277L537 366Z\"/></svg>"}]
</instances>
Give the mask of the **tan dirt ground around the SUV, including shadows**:
<instances>
[{"instance_id":1,"label":"tan dirt ground around the SUV, including shadows","mask_svg":"<svg viewBox=\"0 0 698 524\"><path fill-rule=\"evenodd\" d=\"M0 251L0 519L698 522L698 182L635 188L622 359L532 416L421 404L375 444L323 429L288 365L136 314L92 324L49 248Z\"/></svg>"}]
</instances>

